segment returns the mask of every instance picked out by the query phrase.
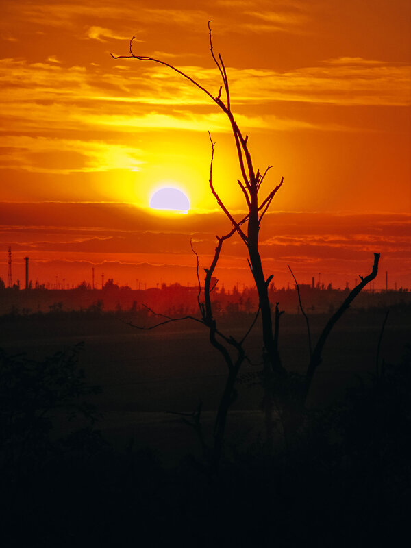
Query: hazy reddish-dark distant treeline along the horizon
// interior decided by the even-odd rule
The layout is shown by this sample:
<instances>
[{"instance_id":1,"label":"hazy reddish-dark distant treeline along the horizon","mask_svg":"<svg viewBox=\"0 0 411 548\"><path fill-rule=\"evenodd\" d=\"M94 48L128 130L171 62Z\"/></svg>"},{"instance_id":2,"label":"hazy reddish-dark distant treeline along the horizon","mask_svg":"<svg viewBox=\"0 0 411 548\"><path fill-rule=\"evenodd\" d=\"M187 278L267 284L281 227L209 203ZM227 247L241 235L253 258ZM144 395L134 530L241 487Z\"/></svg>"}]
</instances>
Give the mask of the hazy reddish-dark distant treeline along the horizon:
<instances>
[{"instance_id":1,"label":"hazy reddish-dark distant treeline along the horizon","mask_svg":"<svg viewBox=\"0 0 411 548\"><path fill-rule=\"evenodd\" d=\"M309 314L330 314L340 306L349 288L334 289L327 287L300 284L299 291L303 307ZM288 314L299 314L298 295L295 287L275 288L271 283L269 288L271 302L279 303L279 307ZM203 292L195 286L162 284L158 288L132 290L128 286L118 286L109 279L103 289L92 289L85 282L73 289L48 290L38 287L20 290L19 286L5 288L0 279L0 315L4 314L36 314L38 312L69 312L71 310L101 313L107 311L140 312L150 314L151 308L159 314L169 316L184 316L198 312L198 300L203 300ZM254 314L258 310L258 295L255 288L245 287L242 290L234 286L225 290L217 285L212 291L213 313L215 316L232 314ZM409 308L411 292L407 289L374 291L363 290L358 295L353 307L362 310L371 308Z\"/></svg>"}]
</instances>

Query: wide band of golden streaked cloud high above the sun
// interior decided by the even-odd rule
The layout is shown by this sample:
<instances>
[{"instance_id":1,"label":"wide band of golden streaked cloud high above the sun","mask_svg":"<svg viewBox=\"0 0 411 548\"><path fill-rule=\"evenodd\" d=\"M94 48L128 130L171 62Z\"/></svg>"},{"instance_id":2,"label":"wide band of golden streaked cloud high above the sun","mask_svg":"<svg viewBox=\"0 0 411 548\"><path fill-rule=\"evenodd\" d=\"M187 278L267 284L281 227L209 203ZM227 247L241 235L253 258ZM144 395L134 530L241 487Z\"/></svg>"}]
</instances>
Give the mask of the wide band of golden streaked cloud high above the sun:
<instances>
[{"instance_id":1,"label":"wide band of golden streaked cloud high above the sun","mask_svg":"<svg viewBox=\"0 0 411 548\"><path fill-rule=\"evenodd\" d=\"M46 63L0 61L0 108L6 132L48 132L51 127L77 132L90 127L107 132L136 128L229 131L209 97L163 67L122 60L108 72L99 66L65 66L59 61L55 56ZM182 69L217 94L217 71L201 66ZM286 72L230 67L227 71L238 123L247 129L349 129L269 114L269 105L279 101L403 106L411 97L410 67L375 60L351 63L340 58ZM147 105L152 108L148 110Z\"/></svg>"}]
</instances>

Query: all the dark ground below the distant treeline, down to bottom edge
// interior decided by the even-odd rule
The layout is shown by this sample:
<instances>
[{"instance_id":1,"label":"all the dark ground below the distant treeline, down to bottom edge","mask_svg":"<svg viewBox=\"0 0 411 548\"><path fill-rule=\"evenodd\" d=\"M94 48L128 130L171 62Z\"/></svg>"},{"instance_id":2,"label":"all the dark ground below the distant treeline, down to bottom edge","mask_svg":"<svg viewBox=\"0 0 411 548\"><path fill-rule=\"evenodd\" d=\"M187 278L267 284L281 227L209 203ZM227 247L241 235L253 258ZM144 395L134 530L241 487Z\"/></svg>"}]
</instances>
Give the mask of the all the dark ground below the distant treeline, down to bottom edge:
<instances>
[{"instance_id":1,"label":"all the dark ground below the distant treeline, down to bottom edge","mask_svg":"<svg viewBox=\"0 0 411 548\"><path fill-rule=\"evenodd\" d=\"M16 442L19 453L3 461L1 477L5 545L399 545L411 496L411 316L388 316L379 363L393 365L382 378L376 358L384 316L375 310L343 318L312 387L316 412L291 447L278 430L273 449L264 443L263 392L254 374L256 325L247 343L255 365L240 375L225 460L214 477L203 469L186 417L176 414L201 400L212 438L225 365L201 326L140 332L110 314L1 318L7 356L25 353L40 363L82 342L79 366L87 382L101 386L87 400L103 415L85 430L84 420L67 423L60 410L47 436L41 431L42 443L30 436L26 445ZM313 317L314 340L325 321ZM225 327L233 336L247 330L239 319ZM301 316L284 316L280 348L284 364L303 372Z\"/></svg>"}]
</instances>

